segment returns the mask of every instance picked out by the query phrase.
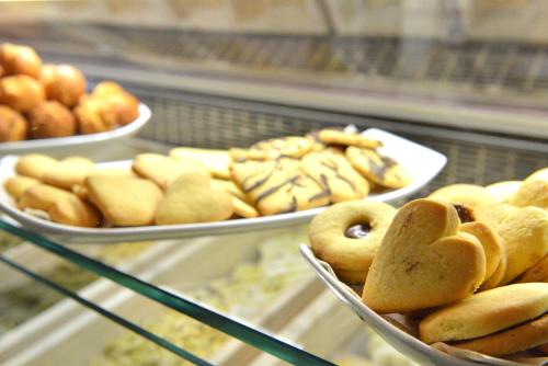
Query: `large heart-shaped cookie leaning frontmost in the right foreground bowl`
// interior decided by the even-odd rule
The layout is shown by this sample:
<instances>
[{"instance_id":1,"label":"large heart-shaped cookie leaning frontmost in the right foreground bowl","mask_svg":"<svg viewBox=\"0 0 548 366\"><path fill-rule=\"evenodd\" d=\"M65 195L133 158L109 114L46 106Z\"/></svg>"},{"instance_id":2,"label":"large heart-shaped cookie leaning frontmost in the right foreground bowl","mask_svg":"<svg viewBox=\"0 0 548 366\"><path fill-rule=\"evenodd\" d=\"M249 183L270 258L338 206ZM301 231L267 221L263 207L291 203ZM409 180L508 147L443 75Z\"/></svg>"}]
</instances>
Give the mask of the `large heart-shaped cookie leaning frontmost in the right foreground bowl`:
<instances>
[{"instance_id":1,"label":"large heart-shaped cookie leaning frontmost in the right foreground bowl","mask_svg":"<svg viewBox=\"0 0 548 366\"><path fill-rule=\"evenodd\" d=\"M449 204L416 199L398 210L367 275L364 302L408 312L458 301L486 277L486 254Z\"/></svg>"}]
</instances>

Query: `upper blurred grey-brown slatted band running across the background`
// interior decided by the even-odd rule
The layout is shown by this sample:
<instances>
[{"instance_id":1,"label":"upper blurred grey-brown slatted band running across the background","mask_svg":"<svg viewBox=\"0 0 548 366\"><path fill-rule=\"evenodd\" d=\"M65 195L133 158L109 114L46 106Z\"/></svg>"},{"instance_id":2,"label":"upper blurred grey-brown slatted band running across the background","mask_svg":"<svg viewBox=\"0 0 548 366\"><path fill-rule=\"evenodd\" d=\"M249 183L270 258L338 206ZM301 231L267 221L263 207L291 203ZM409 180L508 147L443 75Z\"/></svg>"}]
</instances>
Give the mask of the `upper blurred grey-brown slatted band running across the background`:
<instances>
[{"instance_id":1,"label":"upper blurred grey-brown slatted band running across the background","mask_svg":"<svg viewBox=\"0 0 548 366\"><path fill-rule=\"evenodd\" d=\"M9 33L7 33L9 32ZM548 88L547 47L516 43L372 37L261 35L155 30L102 24L44 23L35 31L1 30L0 36L34 43L45 53L85 57L109 56L128 64L173 69L190 64L212 72L258 71L288 80L304 73L398 84L435 83L441 90L520 91L535 94ZM357 81L356 81L357 80ZM416 87L416 85L415 85Z\"/></svg>"}]
</instances>

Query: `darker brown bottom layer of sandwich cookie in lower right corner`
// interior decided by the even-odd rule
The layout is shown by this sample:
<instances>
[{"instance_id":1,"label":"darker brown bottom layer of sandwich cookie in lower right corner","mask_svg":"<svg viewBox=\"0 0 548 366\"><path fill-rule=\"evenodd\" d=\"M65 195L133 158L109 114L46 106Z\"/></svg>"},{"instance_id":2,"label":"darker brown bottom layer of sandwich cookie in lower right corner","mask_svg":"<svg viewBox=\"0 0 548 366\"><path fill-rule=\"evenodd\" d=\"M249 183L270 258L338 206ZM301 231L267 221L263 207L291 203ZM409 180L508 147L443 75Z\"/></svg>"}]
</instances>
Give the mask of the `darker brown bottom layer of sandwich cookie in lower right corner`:
<instances>
[{"instance_id":1,"label":"darker brown bottom layer of sandwich cookie in lower right corner","mask_svg":"<svg viewBox=\"0 0 548 366\"><path fill-rule=\"evenodd\" d=\"M534 348L545 342L548 342L548 314L499 333L452 345L490 356L505 356Z\"/></svg>"}]
</instances>

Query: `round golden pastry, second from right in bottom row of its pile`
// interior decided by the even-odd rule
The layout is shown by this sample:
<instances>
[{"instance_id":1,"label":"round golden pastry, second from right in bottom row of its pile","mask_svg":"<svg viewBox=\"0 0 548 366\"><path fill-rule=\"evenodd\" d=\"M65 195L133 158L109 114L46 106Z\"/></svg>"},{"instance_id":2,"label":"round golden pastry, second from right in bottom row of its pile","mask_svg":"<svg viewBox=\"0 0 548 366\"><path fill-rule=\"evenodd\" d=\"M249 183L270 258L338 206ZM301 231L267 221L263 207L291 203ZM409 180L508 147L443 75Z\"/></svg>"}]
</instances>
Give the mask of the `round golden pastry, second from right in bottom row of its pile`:
<instances>
[{"instance_id":1,"label":"round golden pastry, second from right in bottom row of its pile","mask_svg":"<svg viewBox=\"0 0 548 366\"><path fill-rule=\"evenodd\" d=\"M80 134L104 133L116 127L116 113L101 100L85 98L73 112Z\"/></svg>"}]
</instances>

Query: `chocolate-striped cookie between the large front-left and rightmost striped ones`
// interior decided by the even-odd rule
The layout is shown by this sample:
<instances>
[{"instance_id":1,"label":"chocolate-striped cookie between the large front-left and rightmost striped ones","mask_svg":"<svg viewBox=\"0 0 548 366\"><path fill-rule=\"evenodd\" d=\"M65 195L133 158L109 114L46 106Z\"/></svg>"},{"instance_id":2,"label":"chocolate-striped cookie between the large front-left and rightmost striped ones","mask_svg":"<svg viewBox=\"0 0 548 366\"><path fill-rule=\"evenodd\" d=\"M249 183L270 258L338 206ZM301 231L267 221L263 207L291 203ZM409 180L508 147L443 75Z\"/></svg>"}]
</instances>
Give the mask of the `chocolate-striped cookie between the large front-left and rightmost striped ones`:
<instances>
[{"instance_id":1,"label":"chocolate-striped cookie between the large front-left and rightmost striped ones","mask_svg":"<svg viewBox=\"0 0 548 366\"><path fill-rule=\"evenodd\" d=\"M330 151L310 152L302 158L302 170L321 182L332 203L359 199L369 193L369 183L346 158Z\"/></svg>"}]
</instances>

